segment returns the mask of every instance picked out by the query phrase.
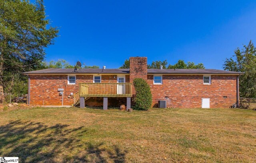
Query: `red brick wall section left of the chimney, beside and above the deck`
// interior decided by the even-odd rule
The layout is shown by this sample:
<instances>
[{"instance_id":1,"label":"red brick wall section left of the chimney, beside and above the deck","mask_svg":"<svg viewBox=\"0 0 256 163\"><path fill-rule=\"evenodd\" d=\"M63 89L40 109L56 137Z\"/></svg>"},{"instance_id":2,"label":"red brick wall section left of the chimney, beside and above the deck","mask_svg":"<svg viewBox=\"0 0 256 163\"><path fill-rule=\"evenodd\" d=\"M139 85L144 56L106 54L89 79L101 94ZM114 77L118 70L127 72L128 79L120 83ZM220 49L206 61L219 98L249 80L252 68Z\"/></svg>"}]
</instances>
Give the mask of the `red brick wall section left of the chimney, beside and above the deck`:
<instances>
[{"instance_id":1,"label":"red brick wall section left of the chimney, beside and above the deck","mask_svg":"<svg viewBox=\"0 0 256 163\"><path fill-rule=\"evenodd\" d=\"M101 78L102 82L117 82L116 75L102 75ZM61 105L58 88L64 88L63 105L72 105L73 98L69 96L79 91L79 82L93 82L93 75L76 75L76 84L68 84L68 75L31 76L30 104Z\"/></svg>"}]
</instances>

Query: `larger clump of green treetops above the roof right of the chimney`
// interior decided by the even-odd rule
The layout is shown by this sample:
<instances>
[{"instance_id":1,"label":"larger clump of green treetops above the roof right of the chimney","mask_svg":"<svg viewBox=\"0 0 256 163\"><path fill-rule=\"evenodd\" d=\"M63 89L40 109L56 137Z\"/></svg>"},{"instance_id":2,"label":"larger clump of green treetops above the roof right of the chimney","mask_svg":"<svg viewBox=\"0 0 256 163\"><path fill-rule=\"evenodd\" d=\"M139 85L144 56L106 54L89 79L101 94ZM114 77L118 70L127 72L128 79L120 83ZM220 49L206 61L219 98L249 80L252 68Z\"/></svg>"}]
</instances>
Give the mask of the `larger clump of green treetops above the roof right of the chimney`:
<instances>
[{"instance_id":1,"label":"larger clump of green treetops above the roof right of the chimney","mask_svg":"<svg viewBox=\"0 0 256 163\"><path fill-rule=\"evenodd\" d=\"M185 63L183 60L178 60L176 64L168 65L167 69L205 69L205 67L202 63L195 65L194 62Z\"/></svg>"}]
</instances>

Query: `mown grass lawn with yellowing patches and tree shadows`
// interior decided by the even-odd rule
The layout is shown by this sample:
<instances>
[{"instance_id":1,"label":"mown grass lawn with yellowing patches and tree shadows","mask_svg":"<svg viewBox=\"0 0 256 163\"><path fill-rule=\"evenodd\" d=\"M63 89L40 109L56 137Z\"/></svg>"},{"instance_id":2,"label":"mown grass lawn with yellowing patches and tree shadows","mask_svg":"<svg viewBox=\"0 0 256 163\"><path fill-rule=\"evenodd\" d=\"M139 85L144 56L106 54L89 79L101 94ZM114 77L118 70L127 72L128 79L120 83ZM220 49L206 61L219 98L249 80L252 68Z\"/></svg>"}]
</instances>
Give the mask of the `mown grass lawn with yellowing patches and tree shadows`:
<instances>
[{"instance_id":1,"label":"mown grass lawn with yellowing patches and tree shadows","mask_svg":"<svg viewBox=\"0 0 256 163\"><path fill-rule=\"evenodd\" d=\"M256 162L256 111L0 111L0 156L20 162Z\"/></svg>"}]
</instances>

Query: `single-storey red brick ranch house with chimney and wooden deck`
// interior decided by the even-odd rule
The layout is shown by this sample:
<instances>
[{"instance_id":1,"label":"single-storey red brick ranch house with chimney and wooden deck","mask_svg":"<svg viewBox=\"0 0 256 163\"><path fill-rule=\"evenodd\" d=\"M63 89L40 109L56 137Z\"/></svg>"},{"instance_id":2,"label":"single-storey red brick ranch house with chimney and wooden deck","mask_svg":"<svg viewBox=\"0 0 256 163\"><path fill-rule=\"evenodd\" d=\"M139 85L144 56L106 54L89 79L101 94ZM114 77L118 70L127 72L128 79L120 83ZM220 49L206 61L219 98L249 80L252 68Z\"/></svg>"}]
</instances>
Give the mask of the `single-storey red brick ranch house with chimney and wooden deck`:
<instances>
[{"instance_id":1,"label":"single-storey red brick ranch house with chimney and wooden deck","mask_svg":"<svg viewBox=\"0 0 256 163\"><path fill-rule=\"evenodd\" d=\"M216 69L147 69L147 57L130 57L130 69L43 69L28 75L28 103L130 108L132 82L142 78L152 107L166 100L173 108L229 108L238 102L239 75Z\"/></svg>"}]
</instances>

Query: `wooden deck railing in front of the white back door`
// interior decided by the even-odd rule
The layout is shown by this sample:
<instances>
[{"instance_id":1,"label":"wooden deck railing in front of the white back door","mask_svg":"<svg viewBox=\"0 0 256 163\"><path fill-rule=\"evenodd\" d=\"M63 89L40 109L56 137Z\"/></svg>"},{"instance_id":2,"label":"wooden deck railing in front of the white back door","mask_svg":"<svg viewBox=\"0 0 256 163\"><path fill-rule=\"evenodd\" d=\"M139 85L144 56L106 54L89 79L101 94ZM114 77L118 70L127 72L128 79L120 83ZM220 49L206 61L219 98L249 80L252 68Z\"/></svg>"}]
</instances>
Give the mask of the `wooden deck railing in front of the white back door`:
<instances>
[{"instance_id":1,"label":"wooden deck railing in front of the white back door","mask_svg":"<svg viewBox=\"0 0 256 163\"><path fill-rule=\"evenodd\" d=\"M131 97L132 83L79 83L79 95L84 97Z\"/></svg>"}]
</instances>

